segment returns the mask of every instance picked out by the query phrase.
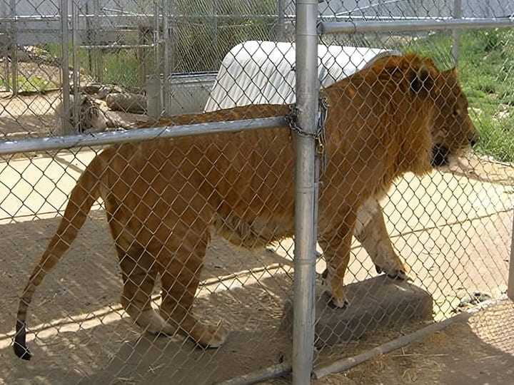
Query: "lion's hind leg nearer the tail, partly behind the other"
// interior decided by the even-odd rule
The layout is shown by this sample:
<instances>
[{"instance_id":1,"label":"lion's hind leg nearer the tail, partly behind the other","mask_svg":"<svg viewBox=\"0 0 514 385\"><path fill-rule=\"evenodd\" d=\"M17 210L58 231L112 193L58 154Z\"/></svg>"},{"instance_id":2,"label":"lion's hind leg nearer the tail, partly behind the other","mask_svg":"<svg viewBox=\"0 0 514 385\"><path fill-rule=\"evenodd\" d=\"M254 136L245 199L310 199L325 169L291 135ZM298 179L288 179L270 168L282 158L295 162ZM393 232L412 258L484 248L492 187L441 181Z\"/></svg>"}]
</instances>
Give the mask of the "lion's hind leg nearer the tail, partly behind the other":
<instances>
[{"instance_id":1,"label":"lion's hind leg nearer the tail, partly behind the other","mask_svg":"<svg viewBox=\"0 0 514 385\"><path fill-rule=\"evenodd\" d=\"M156 281L154 259L146 255L143 247L131 247L125 252L116 246L121 276L124 282L121 304L139 327L152 334L173 334L169 324L151 307L151 293Z\"/></svg>"}]
</instances>

